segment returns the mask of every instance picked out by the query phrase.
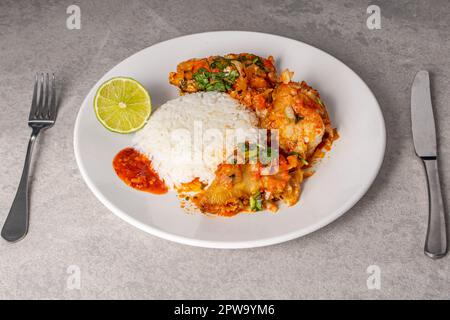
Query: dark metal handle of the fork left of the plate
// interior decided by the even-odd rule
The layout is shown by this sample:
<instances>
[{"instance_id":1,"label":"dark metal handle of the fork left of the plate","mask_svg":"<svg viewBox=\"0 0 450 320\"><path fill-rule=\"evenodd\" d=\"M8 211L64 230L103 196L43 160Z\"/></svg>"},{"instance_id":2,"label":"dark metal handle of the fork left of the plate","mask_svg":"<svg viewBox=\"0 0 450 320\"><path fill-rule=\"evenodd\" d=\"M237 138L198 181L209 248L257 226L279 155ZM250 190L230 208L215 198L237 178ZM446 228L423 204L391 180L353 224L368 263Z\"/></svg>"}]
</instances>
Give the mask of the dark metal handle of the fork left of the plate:
<instances>
[{"instance_id":1,"label":"dark metal handle of the fork left of the plate","mask_svg":"<svg viewBox=\"0 0 450 320\"><path fill-rule=\"evenodd\" d=\"M16 197L14 198L8 217L2 229L2 237L10 242L21 240L28 232L28 175L30 171L31 155L33 153L34 142L39 134L39 128L33 128L30 141L28 142L27 156L20 178Z\"/></svg>"}]
</instances>

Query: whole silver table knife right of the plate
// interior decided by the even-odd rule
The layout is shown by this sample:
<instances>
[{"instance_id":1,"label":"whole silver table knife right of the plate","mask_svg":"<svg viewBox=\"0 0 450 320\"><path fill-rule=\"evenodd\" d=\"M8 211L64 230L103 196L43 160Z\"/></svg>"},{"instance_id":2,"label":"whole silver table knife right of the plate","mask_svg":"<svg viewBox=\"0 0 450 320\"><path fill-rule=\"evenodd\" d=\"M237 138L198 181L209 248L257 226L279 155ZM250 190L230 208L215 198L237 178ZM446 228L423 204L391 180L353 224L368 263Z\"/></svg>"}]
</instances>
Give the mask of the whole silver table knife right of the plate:
<instances>
[{"instance_id":1,"label":"whole silver table knife right of the plate","mask_svg":"<svg viewBox=\"0 0 450 320\"><path fill-rule=\"evenodd\" d=\"M430 77L419 71L411 88L411 122L416 154L424 163L428 185L428 230L425 254L439 259L447 253L447 227L437 164L436 128L431 106Z\"/></svg>"}]
</instances>

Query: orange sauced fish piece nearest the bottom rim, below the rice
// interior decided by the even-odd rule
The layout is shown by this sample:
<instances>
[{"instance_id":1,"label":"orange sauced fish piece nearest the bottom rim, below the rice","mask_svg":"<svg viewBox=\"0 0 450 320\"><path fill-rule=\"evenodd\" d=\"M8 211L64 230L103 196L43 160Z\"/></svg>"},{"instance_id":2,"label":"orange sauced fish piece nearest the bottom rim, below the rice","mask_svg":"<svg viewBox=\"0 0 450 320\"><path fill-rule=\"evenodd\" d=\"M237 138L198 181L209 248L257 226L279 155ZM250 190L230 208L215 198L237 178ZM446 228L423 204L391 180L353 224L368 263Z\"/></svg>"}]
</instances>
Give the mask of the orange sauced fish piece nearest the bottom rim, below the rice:
<instances>
[{"instance_id":1,"label":"orange sauced fish piece nearest the bottom rim, below the rice","mask_svg":"<svg viewBox=\"0 0 450 320\"><path fill-rule=\"evenodd\" d=\"M222 163L213 182L192 201L202 211L221 216L239 212L256 212L265 208L276 211L277 201L288 205L297 203L300 196L302 166L294 155L279 155L277 170L264 174L261 162L244 164Z\"/></svg>"}]
</instances>

